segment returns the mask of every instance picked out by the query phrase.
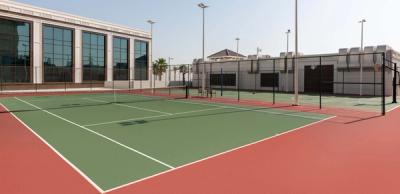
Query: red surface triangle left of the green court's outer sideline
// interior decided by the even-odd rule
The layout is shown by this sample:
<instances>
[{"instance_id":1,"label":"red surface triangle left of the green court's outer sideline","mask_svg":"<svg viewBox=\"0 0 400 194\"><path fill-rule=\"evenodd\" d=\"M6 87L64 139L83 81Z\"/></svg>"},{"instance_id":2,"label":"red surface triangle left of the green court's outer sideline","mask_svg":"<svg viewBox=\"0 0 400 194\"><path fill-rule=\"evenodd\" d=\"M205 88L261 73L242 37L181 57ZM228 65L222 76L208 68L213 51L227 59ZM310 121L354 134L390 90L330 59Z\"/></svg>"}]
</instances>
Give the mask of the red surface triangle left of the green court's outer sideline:
<instances>
[{"instance_id":1,"label":"red surface triangle left of the green court's outer sideline","mask_svg":"<svg viewBox=\"0 0 400 194\"><path fill-rule=\"evenodd\" d=\"M0 106L0 193L98 193L62 158Z\"/></svg>"}]
</instances>

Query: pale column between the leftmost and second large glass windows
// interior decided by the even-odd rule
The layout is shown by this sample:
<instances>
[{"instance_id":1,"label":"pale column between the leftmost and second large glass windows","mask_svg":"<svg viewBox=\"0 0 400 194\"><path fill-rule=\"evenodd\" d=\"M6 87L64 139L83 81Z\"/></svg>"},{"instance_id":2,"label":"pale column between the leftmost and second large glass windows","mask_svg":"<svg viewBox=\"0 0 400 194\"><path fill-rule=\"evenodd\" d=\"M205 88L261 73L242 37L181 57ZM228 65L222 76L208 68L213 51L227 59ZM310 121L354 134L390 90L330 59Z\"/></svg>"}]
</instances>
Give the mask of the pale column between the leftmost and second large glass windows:
<instances>
[{"instance_id":1,"label":"pale column between the leftmost and second large glass windows","mask_svg":"<svg viewBox=\"0 0 400 194\"><path fill-rule=\"evenodd\" d=\"M33 83L43 83L42 22L33 21Z\"/></svg>"}]
</instances>

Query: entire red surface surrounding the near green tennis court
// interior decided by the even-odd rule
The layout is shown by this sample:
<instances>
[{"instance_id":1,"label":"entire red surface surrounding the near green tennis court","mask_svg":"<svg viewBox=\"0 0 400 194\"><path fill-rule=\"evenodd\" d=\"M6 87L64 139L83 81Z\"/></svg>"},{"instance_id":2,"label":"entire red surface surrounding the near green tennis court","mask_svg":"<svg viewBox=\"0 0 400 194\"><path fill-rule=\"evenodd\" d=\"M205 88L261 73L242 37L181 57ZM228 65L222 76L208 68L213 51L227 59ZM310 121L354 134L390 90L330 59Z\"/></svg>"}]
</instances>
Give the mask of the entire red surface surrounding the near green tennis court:
<instances>
[{"instance_id":1,"label":"entire red surface surrounding the near green tennis court","mask_svg":"<svg viewBox=\"0 0 400 194\"><path fill-rule=\"evenodd\" d=\"M399 109L287 108L337 117L108 193L400 193ZM1 193L98 193L10 114L0 120Z\"/></svg>"}]
</instances>

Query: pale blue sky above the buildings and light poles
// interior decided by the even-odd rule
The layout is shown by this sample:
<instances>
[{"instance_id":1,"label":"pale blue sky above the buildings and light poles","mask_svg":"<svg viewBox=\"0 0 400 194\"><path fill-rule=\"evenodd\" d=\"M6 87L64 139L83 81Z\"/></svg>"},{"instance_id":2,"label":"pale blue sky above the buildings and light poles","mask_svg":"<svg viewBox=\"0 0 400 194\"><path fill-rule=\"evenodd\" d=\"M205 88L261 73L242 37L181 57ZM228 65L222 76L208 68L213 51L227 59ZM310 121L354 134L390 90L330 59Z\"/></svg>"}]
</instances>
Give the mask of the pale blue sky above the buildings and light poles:
<instances>
[{"instance_id":1,"label":"pale blue sky above the buildings and light poles","mask_svg":"<svg viewBox=\"0 0 400 194\"><path fill-rule=\"evenodd\" d=\"M149 31L157 21L154 57L191 63L201 57L199 0L18 0L44 8ZM294 0L208 0L206 55L228 48L278 56L286 50L285 31L294 28ZM337 52L360 45L360 24L367 19L365 45L388 44L400 50L399 0L299 0L299 51ZM291 50L294 47L291 36Z\"/></svg>"}]
</instances>

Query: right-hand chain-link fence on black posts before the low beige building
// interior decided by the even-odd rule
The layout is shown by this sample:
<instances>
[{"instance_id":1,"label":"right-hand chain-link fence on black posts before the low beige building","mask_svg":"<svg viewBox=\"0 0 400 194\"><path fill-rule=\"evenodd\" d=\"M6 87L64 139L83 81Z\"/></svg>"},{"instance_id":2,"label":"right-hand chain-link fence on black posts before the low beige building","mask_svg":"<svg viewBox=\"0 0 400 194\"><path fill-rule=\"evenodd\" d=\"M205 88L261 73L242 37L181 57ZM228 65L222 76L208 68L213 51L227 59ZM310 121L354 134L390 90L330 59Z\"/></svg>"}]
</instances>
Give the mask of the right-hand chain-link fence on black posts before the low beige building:
<instances>
[{"instance_id":1,"label":"right-hand chain-link fence on black posts before the low beige building","mask_svg":"<svg viewBox=\"0 0 400 194\"><path fill-rule=\"evenodd\" d=\"M382 114L396 106L398 71L395 59L384 52L198 63L191 95L296 104L295 60L301 105Z\"/></svg>"}]
</instances>

